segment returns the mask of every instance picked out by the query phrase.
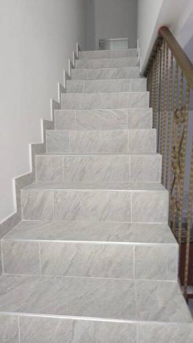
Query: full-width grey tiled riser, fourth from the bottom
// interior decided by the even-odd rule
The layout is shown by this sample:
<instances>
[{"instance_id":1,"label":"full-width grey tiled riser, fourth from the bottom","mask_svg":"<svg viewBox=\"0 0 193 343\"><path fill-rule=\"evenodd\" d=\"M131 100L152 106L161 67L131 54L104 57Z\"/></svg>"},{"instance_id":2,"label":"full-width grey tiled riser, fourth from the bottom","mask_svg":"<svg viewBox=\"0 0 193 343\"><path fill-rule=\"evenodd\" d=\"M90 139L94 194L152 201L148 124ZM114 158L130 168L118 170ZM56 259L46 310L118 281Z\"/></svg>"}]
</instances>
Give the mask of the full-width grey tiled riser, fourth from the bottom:
<instances>
[{"instance_id":1,"label":"full-width grey tiled riser, fourth from the bottom","mask_svg":"<svg viewBox=\"0 0 193 343\"><path fill-rule=\"evenodd\" d=\"M161 182L161 156L36 156L36 181Z\"/></svg>"}]
</instances>

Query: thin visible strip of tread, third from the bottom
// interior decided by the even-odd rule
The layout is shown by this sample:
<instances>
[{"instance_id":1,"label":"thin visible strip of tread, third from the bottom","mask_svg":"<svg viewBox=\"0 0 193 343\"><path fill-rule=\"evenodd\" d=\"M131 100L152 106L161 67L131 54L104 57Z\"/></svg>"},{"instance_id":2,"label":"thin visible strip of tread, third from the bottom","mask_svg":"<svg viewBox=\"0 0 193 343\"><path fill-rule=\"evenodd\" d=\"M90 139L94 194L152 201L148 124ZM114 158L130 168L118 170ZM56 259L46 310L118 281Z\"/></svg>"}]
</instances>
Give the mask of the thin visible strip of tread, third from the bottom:
<instances>
[{"instance_id":1,"label":"thin visible strip of tread, third from the bottom","mask_svg":"<svg viewBox=\"0 0 193 343\"><path fill-rule=\"evenodd\" d=\"M45 182L37 181L24 188L24 190L95 190L95 191L166 191L159 182Z\"/></svg>"}]
</instances>

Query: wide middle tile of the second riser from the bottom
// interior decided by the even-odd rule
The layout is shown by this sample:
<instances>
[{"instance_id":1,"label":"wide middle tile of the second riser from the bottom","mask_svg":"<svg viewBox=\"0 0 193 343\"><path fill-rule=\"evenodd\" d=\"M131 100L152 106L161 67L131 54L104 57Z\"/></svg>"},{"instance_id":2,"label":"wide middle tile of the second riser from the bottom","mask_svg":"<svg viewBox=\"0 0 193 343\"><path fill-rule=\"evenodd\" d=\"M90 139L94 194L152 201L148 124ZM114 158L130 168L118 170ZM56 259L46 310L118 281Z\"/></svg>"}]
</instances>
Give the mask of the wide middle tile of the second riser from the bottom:
<instances>
[{"instance_id":1,"label":"wide middle tile of the second riser from the bottom","mask_svg":"<svg viewBox=\"0 0 193 343\"><path fill-rule=\"evenodd\" d=\"M44 275L133 279L133 246L41 243Z\"/></svg>"}]
</instances>

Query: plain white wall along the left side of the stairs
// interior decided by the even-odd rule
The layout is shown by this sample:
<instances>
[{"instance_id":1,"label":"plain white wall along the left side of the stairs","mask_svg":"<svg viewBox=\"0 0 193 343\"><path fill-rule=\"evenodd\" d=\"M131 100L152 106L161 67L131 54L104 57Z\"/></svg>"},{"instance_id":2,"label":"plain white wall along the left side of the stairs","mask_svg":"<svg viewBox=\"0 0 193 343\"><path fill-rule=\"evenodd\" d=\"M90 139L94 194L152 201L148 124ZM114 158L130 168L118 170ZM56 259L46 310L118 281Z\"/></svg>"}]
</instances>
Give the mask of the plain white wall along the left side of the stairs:
<instances>
[{"instance_id":1,"label":"plain white wall along the left side of the stairs","mask_svg":"<svg viewBox=\"0 0 193 343\"><path fill-rule=\"evenodd\" d=\"M29 143L76 42L84 48L84 0L0 1L0 221L14 211L12 178L30 171Z\"/></svg>"}]
</instances>

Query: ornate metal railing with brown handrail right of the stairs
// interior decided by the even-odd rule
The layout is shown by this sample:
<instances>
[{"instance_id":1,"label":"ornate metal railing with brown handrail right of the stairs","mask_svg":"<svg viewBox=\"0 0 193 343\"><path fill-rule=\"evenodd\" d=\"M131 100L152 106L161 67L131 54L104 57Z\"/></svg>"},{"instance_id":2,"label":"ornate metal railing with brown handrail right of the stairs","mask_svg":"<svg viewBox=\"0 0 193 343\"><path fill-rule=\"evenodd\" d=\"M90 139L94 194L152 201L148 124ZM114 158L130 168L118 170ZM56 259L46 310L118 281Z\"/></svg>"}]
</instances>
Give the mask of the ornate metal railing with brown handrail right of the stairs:
<instances>
[{"instance_id":1,"label":"ornate metal railing with brown handrail right of the stairs","mask_svg":"<svg viewBox=\"0 0 193 343\"><path fill-rule=\"evenodd\" d=\"M169 225L179 242L179 278L185 298L193 298L193 64L168 27L159 29L145 76L162 183L170 193Z\"/></svg>"}]
</instances>

